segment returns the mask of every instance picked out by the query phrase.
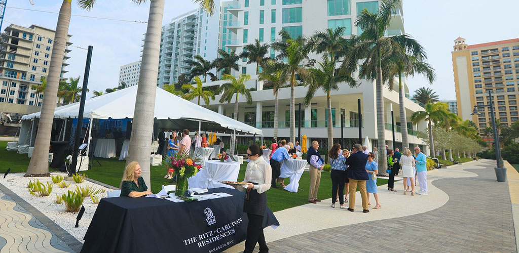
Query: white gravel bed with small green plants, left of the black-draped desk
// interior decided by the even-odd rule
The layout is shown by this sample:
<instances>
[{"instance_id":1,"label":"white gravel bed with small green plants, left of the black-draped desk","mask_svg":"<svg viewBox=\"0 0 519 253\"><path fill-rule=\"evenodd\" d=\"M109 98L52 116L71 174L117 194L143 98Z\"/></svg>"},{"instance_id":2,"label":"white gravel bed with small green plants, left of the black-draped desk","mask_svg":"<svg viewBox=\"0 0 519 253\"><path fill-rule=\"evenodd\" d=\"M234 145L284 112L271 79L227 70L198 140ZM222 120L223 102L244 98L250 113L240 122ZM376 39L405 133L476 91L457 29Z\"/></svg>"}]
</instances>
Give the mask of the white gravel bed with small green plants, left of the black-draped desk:
<instances>
[{"instance_id":1,"label":"white gravel bed with small green plants, left of the black-draped desk","mask_svg":"<svg viewBox=\"0 0 519 253\"><path fill-rule=\"evenodd\" d=\"M54 204L54 200L56 200L56 194L62 195L63 193L66 193L67 191L75 191L76 186L80 187L95 187L98 189L104 189L105 192L99 192L97 196L101 200L101 198L106 198L106 192L112 191L112 189L103 187L98 184L94 184L93 182L85 180L84 182L80 184L76 184L75 182L69 182L70 186L67 188L60 188L56 184L53 184L52 192L48 196L34 196L29 193L29 189L27 188L27 184L29 180L33 179L33 181L36 181L36 179L39 179L40 182L46 185L46 182L52 182L51 177L23 177L24 173L11 173L7 176L6 179L1 179L0 182L2 185L6 186L11 190L12 192L16 193L20 198L34 206L36 209L38 209L40 212L42 212L44 215L46 215L49 219L56 222L58 226L69 232L72 236L76 237L76 239L84 243L83 237L85 236L85 233L87 232L88 226L90 224L90 221L92 220L92 217L95 213L95 209L97 208L97 204L93 204L90 197L85 198L83 201L83 205L85 206L85 213L83 214L83 217L79 221L79 228L74 228L76 224L76 217L77 213L69 213L65 212L65 204ZM51 175L61 175L66 176L66 173L51 173Z\"/></svg>"}]
</instances>

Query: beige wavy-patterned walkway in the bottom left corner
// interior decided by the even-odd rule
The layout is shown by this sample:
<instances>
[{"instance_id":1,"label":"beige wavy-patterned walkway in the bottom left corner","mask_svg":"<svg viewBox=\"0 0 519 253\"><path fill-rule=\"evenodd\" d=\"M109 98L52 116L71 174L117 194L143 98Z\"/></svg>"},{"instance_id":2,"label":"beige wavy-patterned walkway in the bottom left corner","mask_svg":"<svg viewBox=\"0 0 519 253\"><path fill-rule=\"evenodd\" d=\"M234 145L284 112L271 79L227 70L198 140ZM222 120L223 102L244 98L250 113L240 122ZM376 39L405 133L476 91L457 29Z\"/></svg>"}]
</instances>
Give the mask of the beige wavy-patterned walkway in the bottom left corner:
<instances>
[{"instance_id":1,"label":"beige wavy-patterned walkway in the bottom left corner","mask_svg":"<svg viewBox=\"0 0 519 253\"><path fill-rule=\"evenodd\" d=\"M0 190L0 253L75 252Z\"/></svg>"}]
</instances>

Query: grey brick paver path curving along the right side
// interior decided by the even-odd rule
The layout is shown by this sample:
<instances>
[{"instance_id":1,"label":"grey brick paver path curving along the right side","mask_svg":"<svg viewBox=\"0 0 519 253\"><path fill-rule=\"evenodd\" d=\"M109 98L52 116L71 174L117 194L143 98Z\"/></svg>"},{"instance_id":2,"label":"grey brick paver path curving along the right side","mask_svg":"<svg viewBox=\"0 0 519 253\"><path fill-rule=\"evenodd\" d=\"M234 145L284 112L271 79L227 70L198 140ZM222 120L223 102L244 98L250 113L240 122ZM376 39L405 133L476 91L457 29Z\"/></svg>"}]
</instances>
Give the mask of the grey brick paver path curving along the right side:
<instances>
[{"instance_id":1,"label":"grey brick paver path curving along the right side","mask_svg":"<svg viewBox=\"0 0 519 253\"><path fill-rule=\"evenodd\" d=\"M496 181L494 163L471 165L486 168L433 181L449 195L438 209L284 238L269 252L516 252L508 184Z\"/></svg>"}]
</instances>

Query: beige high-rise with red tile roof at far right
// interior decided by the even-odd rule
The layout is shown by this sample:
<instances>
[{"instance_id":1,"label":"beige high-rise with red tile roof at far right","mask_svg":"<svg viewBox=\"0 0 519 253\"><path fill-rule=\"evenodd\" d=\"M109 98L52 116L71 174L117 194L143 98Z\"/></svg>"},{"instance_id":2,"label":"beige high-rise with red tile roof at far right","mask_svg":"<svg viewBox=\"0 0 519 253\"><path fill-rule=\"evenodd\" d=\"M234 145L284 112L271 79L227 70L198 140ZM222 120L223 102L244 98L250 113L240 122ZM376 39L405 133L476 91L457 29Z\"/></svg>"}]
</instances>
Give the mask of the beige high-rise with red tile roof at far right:
<instances>
[{"instance_id":1,"label":"beige high-rise with red tile roof at far right","mask_svg":"<svg viewBox=\"0 0 519 253\"><path fill-rule=\"evenodd\" d=\"M458 116L476 122L479 129L491 126L488 91L494 101L496 119L510 125L519 120L519 38L467 45L465 38L454 40L452 52Z\"/></svg>"}]
</instances>

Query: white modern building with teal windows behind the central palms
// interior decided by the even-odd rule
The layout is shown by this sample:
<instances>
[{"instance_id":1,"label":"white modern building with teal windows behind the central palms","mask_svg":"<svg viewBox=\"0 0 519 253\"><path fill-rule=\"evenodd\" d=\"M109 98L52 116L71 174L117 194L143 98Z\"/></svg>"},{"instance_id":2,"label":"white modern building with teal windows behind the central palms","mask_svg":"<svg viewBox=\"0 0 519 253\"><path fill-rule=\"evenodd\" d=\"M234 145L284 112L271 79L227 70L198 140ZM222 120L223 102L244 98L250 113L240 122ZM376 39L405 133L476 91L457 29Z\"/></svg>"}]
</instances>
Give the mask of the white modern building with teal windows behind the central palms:
<instances>
[{"instance_id":1,"label":"white modern building with teal windows behind the central palms","mask_svg":"<svg viewBox=\"0 0 519 253\"><path fill-rule=\"evenodd\" d=\"M310 37L316 31L323 31L327 28L338 26L346 27L345 36L358 35L362 31L354 26L358 13L363 9L377 11L378 1L361 0L239 0L228 4L227 9L222 12L227 16L227 26L222 27L221 38L225 41L226 48L236 50L237 53L243 51L243 46L254 43L257 38L264 43L270 43L279 39L279 31L286 30L293 37ZM229 22L229 20L232 20ZM225 20L224 20L225 21ZM224 32L225 31L225 32ZM230 39L229 32L230 31ZM393 13L388 35L399 35L404 33L404 18L402 8ZM223 40L227 34L227 40ZM236 37L235 37L236 36ZM236 39L237 38L237 39ZM276 52L270 51L271 57ZM310 59L320 60L321 55L312 54ZM274 135L274 95L272 90L264 89L263 82L257 81L255 75L255 64L247 64L246 60L239 61L240 71L233 74L249 74L252 79L247 83L248 88L255 88L252 93L253 103L245 103L243 96L239 96L238 120L261 128L266 138ZM357 77L357 76L355 76ZM420 146L428 153L426 145L417 137L417 131L426 129L426 123L421 122L417 125L411 123L410 117L415 111L423 110L422 107L407 99L408 86L406 78L403 78L405 85L406 98L406 118L409 133L409 143L411 146ZM339 85L338 91L332 92L332 120L334 143L340 142L341 128L340 117L344 114L346 123L344 128L345 146L351 146L358 142L358 99L361 100L361 111L363 118L362 138L366 136L371 140L372 145L377 144L377 119L376 119L376 97L375 82L360 79L358 88L350 88L346 84ZM208 82L205 86L219 86L223 81ZM400 133L401 115L399 113L398 85L396 90L384 89L384 104L386 110L386 141L393 147L391 131L391 111L394 114L395 125L395 145L402 148L402 135ZM307 88L302 85L295 87L296 104L296 132L297 121L299 120L298 104L302 104L302 135L306 135L310 140L319 140L322 148L327 148L327 128L326 128L326 94L322 91L316 92L312 102L304 106L304 97ZM216 96L208 106L218 113L232 117L234 113L234 103L220 104ZM278 139L289 138L289 115L290 115L290 88L282 88L279 92L279 133ZM247 144L252 136L241 136L238 142Z\"/></svg>"}]
</instances>

